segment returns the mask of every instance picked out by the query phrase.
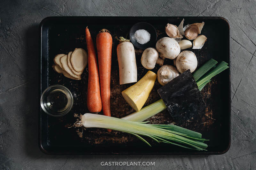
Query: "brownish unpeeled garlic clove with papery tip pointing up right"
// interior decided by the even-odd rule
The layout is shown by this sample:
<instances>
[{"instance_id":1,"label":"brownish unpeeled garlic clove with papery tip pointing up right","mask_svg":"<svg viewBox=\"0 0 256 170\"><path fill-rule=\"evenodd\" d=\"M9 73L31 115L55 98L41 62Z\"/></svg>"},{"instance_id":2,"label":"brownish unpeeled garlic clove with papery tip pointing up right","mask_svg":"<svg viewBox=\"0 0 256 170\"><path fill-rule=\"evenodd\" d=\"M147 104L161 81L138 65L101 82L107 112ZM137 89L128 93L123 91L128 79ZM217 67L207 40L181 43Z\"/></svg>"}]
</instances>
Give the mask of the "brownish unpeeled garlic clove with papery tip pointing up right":
<instances>
[{"instance_id":1,"label":"brownish unpeeled garlic clove with papery tip pointing up right","mask_svg":"<svg viewBox=\"0 0 256 170\"><path fill-rule=\"evenodd\" d=\"M184 35L187 39L190 39L190 40L195 39L197 35L201 33L203 27L204 27L204 22L191 24L185 30Z\"/></svg>"}]
</instances>

